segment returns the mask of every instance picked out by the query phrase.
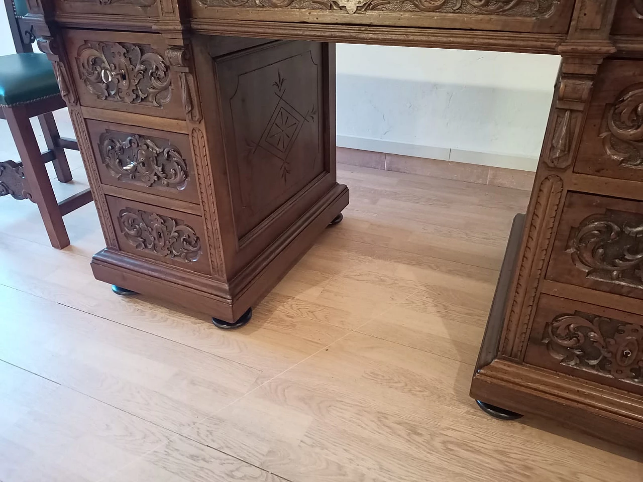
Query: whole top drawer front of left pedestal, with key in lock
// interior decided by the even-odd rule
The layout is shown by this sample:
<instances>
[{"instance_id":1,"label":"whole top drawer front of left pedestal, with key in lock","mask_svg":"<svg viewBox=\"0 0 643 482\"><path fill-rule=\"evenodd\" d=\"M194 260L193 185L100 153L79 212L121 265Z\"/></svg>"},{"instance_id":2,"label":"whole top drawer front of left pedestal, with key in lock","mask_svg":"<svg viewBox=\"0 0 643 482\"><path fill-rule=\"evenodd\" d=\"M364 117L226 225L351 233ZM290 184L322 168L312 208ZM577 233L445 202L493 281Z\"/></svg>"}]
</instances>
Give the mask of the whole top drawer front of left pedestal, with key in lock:
<instances>
[{"instance_id":1,"label":"whole top drawer front of left pedestal, with key in lock","mask_svg":"<svg viewBox=\"0 0 643 482\"><path fill-rule=\"evenodd\" d=\"M65 42L82 105L185 120L161 35L67 30Z\"/></svg>"}]
</instances>

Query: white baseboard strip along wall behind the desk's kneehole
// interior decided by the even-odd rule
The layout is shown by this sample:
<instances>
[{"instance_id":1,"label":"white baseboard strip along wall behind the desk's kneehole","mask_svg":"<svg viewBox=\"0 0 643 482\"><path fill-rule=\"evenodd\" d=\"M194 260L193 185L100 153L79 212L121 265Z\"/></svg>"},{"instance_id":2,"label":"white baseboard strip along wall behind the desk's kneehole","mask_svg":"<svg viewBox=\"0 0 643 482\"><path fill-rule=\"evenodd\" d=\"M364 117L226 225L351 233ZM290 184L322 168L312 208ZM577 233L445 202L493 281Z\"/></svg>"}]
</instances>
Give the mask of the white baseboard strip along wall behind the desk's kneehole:
<instances>
[{"instance_id":1,"label":"white baseboard strip along wall behind the desk's kneehole","mask_svg":"<svg viewBox=\"0 0 643 482\"><path fill-rule=\"evenodd\" d=\"M402 156L440 159L457 163L478 164L481 166L536 171L538 157L511 156L493 152L476 152L473 150L449 149L446 147L431 147L403 142L385 141L383 139L358 138L354 136L337 136L337 147L350 149L372 150Z\"/></svg>"}]
</instances>

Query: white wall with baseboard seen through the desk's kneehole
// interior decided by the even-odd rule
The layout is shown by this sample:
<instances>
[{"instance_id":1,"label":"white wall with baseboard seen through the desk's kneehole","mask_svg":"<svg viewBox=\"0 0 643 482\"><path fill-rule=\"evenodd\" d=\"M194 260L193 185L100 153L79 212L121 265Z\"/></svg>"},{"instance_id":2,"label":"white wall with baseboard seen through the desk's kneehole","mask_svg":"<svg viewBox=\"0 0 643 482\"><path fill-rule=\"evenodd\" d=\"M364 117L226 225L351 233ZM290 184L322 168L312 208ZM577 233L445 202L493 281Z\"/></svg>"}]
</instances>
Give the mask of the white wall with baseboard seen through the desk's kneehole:
<instances>
[{"instance_id":1,"label":"white wall with baseboard seen through the desk's kneehole","mask_svg":"<svg viewBox=\"0 0 643 482\"><path fill-rule=\"evenodd\" d=\"M558 66L556 55L338 44L338 145L535 170Z\"/></svg>"}]
</instances>

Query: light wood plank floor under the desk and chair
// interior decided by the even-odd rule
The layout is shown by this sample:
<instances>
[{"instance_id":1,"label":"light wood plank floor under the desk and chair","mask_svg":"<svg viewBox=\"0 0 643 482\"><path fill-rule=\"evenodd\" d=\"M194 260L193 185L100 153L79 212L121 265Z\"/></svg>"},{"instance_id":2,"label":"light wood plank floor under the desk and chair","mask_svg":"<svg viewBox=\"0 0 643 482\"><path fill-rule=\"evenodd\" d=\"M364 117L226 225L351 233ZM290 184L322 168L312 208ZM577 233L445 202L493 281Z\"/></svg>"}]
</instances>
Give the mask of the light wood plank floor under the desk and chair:
<instances>
[{"instance_id":1,"label":"light wood plank floor under the desk and chair","mask_svg":"<svg viewBox=\"0 0 643 482\"><path fill-rule=\"evenodd\" d=\"M80 181L56 188L83 187ZM637 482L640 454L468 396L529 193L341 168L327 231L248 326L95 281L93 205L56 251L0 199L1 482Z\"/></svg>"}]
</instances>

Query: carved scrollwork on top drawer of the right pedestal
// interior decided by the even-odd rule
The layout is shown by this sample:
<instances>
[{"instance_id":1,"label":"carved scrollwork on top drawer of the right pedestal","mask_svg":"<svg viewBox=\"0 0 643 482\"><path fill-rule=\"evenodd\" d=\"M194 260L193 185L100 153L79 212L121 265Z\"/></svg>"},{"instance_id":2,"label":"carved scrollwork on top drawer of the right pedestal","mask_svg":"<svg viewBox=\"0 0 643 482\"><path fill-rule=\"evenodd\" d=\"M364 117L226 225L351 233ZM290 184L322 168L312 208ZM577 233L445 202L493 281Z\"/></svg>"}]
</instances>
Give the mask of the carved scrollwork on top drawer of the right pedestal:
<instances>
[{"instance_id":1,"label":"carved scrollwork on top drawer of the right pedestal","mask_svg":"<svg viewBox=\"0 0 643 482\"><path fill-rule=\"evenodd\" d=\"M643 168L643 82L630 85L608 109L604 121L605 154L620 166Z\"/></svg>"}]
</instances>

